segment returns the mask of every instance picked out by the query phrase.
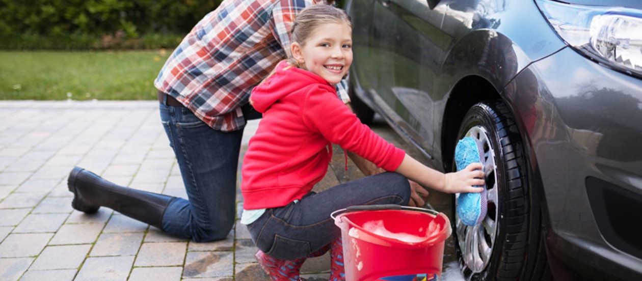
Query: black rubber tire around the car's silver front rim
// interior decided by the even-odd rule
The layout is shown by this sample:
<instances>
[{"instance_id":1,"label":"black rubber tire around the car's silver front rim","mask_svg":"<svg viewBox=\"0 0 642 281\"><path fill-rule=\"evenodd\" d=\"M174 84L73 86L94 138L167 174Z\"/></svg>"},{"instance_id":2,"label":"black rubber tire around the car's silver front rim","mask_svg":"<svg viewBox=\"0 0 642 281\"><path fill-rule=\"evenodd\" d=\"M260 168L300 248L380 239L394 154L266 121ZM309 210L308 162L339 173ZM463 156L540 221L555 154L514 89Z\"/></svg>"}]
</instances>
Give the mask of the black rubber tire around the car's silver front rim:
<instances>
[{"instance_id":1,"label":"black rubber tire around the car's silver front rim","mask_svg":"<svg viewBox=\"0 0 642 281\"><path fill-rule=\"evenodd\" d=\"M468 279L540 280L546 275L548 267L541 246L539 215L532 217L533 215L530 214L533 210L539 212L539 209L530 205L528 186L526 186L528 185L526 171L528 160L526 160L519 128L508 106L501 101L483 101L473 106L469 113L471 111L489 114L488 117L492 122L489 125L494 126L492 130L498 137L498 151L501 153L499 159L502 159L501 165L503 165L501 176L505 177L498 180L505 180L504 187L507 190L499 191L502 194L500 206L505 209L500 212L504 214L501 224L505 236L503 241L499 241L499 237L496 237L494 246L501 246L501 251L493 252L493 255L499 254L501 257L491 258L491 262L497 260L499 266L496 271L489 271L487 268L480 274L469 275ZM537 243L531 243L533 239L537 239ZM460 264L462 264L461 260Z\"/></svg>"}]
</instances>

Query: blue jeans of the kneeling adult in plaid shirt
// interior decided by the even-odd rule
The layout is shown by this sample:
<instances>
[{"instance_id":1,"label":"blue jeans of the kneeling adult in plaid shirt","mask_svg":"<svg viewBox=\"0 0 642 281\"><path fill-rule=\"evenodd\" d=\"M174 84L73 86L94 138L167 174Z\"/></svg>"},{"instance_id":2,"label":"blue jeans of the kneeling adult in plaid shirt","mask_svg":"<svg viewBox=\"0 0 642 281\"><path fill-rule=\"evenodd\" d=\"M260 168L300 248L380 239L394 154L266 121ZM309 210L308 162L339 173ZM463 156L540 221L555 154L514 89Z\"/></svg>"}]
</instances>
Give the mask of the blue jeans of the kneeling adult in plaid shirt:
<instances>
[{"instance_id":1,"label":"blue jeans of the kneeling adult in plaid shirt","mask_svg":"<svg viewBox=\"0 0 642 281\"><path fill-rule=\"evenodd\" d=\"M243 130L220 132L187 108L162 103L160 120L188 198L169 203L162 230L195 242L225 239L236 219L236 171Z\"/></svg>"}]
</instances>

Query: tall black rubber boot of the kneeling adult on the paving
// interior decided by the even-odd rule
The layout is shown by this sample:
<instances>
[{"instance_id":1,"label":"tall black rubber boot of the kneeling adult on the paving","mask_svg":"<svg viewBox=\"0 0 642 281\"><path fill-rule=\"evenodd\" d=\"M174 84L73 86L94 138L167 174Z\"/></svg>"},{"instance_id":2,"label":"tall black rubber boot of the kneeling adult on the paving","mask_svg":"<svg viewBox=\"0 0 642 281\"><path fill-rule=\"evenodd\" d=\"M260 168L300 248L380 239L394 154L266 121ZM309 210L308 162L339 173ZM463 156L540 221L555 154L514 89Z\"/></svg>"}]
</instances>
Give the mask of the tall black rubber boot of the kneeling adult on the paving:
<instances>
[{"instance_id":1,"label":"tall black rubber boot of the kneeling adult on the paving","mask_svg":"<svg viewBox=\"0 0 642 281\"><path fill-rule=\"evenodd\" d=\"M175 197L139 191L108 182L81 167L74 167L67 179L74 200L71 207L85 213L108 207L125 216L162 230L162 216Z\"/></svg>"}]
</instances>

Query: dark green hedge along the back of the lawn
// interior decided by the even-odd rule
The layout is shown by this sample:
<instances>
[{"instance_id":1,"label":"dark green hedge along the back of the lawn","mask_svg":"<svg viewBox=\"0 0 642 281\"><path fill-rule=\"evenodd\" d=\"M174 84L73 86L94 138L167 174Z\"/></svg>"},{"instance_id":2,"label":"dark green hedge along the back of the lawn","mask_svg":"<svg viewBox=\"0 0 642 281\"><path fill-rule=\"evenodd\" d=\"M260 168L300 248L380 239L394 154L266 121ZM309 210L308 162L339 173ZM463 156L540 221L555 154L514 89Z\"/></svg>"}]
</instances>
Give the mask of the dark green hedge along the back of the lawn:
<instances>
[{"instance_id":1,"label":"dark green hedge along the back of the lawn","mask_svg":"<svg viewBox=\"0 0 642 281\"><path fill-rule=\"evenodd\" d=\"M0 0L0 48L173 47L221 1Z\"/></svg>"}]
</instances>

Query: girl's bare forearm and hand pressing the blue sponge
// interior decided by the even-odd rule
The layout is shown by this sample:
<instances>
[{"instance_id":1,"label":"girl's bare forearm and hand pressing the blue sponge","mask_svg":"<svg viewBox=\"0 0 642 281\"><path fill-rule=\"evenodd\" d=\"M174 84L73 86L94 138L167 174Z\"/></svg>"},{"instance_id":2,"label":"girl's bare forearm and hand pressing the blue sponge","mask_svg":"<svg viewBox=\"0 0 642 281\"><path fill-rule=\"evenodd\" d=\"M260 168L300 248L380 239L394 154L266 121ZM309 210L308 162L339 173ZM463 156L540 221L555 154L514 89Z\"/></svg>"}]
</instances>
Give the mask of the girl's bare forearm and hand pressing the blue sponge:
<instances>
[{"instance_id":1,"label":"girl's bare forearm and hand pressing the blue sponge","mask_svg":"<svg viewBox=\"0 0 642 281\"><path fill-rule=\"evenodd\" d=\"M444 174L424 166L424 164L406 154L395 172L436 191L460 193L482 192L483 190L482 187L473 186L483 185L484 183L481 163L472 163L461 171Z\"/></svg>"}]
</instances>

